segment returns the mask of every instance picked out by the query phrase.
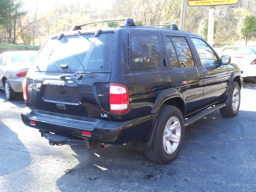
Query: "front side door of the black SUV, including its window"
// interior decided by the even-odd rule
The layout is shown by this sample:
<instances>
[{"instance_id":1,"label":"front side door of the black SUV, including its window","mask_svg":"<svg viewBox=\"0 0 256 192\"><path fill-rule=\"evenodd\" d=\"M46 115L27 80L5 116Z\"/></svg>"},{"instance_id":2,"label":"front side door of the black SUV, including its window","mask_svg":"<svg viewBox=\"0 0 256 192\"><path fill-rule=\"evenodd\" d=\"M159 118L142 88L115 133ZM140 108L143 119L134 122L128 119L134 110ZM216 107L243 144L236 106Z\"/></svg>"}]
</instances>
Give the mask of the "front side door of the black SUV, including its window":
<instances>
[{"instance_id":1,"label":"front side door of the black SUV, including its window","mask_svg":"<svg viewBox=\"0 0 256 192\"><path fill-rule=\"evenodd\" d=\"M191 37L198 52L204 73L204 105L208 106L224 99L228 86L227 65L220 65L218 56L201 38Z\"/></svg>"}]
</instances>

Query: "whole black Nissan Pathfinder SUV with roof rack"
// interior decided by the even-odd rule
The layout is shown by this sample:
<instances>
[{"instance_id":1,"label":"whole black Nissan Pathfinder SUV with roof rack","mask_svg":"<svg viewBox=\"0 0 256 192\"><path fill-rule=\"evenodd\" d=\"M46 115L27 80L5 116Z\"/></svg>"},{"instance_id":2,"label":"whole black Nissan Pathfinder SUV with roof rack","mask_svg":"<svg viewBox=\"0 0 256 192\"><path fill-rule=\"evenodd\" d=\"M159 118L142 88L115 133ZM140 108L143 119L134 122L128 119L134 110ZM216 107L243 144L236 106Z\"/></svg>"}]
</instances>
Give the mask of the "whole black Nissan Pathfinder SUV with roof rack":
<instances>
[{"instance_id":1,"label":"whole black Nissan Pathfinder SUV with roof rack","mask_svg":"<svg viewBox=\"0 0 256 192\"><path fill-rule=\"evenodd\" d=\"M133 142L149 160L169 163L186 126L218 109L238 113L240 69L202 37L132 19L81 26L49 38L23 83L22 120L51 145Z\"/></svg>"}]
</instances>

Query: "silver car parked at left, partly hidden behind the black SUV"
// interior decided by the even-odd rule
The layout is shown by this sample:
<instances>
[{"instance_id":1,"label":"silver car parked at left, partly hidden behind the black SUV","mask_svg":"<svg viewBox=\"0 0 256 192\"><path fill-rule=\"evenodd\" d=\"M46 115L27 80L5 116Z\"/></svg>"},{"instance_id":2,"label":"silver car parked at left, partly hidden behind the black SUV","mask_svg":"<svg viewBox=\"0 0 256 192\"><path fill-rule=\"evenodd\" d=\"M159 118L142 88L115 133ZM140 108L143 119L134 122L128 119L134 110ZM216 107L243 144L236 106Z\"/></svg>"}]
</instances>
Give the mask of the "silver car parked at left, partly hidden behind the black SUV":
<instances>
[{"instance_id":1,"label":"silver car parked at left, partly hidden behind the black SUV","mask_svg":"<svg viewBox=\"0 0 256 192\"><path fill-rule=\"evenodd\" d=\"M0 89L8 100L21 93L22 82L38 51L10 51L0 54Z\"/></svg>"}]
</instances>

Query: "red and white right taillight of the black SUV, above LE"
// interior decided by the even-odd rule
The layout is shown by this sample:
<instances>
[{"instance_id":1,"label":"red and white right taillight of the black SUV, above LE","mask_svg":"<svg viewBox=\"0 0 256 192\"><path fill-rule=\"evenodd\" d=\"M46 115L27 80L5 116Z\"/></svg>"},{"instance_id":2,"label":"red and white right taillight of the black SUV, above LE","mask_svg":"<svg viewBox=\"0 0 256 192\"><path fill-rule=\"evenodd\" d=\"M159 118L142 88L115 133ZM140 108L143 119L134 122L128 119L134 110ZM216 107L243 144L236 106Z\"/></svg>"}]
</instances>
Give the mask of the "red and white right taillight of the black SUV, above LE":
<instances>
[{"instance_id":1,"label":"red and white right taillight of the black SUV, above LE","mask_svg":"<svg viewBox=\"0 0 256 192\"><path fill-rule=\"evenodd\" d=\"M125 85L110 83L110 113L124 114L129 110L129 91Z\"/></svg>"}]
</instances>

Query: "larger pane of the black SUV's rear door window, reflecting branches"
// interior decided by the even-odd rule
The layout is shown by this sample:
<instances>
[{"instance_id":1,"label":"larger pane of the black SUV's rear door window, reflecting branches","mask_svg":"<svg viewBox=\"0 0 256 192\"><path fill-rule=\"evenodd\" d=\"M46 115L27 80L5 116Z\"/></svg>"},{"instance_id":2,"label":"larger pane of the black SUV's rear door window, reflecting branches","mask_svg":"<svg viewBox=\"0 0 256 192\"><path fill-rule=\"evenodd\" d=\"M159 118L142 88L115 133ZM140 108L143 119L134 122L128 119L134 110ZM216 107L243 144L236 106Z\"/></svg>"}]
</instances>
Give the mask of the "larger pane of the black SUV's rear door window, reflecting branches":
<instances>
[{"instance_id":1,"label":"larger pane of the black SUV's rear door window, reflecting branches","mask_svg":"<svg viewBox=\"0 0 256 192\"><path fill-rule=\"evenodd\" d=\"M194 67L194 60L188 42L183 36L171 36L181 67Z\"/></svg>"}]
</instances>

